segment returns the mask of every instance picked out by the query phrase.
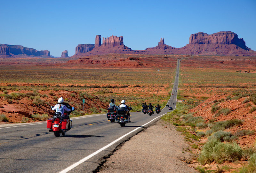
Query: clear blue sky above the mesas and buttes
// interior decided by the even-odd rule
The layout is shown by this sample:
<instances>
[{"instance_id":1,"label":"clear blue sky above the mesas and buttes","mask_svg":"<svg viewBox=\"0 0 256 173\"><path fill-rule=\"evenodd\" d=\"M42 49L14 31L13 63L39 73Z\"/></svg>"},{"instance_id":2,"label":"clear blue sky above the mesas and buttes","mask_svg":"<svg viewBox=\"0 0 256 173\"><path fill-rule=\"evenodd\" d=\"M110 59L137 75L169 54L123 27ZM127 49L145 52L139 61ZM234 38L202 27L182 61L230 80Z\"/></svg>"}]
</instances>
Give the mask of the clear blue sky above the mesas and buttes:
<instances>
[{"instance_id":1,"label":"clear blue sky above the mesas and buttes","mask_svg":"<svg viewBox=\"0 0 256 173\"><path fill-rule=\"evenodd\" d=\"M190 34L233 31L256 50L256 0L12 0L0 3L0 43L75 54L95 36L124 36L133 50L165 44L180 48Z\"/></svg>"}]
</instances>

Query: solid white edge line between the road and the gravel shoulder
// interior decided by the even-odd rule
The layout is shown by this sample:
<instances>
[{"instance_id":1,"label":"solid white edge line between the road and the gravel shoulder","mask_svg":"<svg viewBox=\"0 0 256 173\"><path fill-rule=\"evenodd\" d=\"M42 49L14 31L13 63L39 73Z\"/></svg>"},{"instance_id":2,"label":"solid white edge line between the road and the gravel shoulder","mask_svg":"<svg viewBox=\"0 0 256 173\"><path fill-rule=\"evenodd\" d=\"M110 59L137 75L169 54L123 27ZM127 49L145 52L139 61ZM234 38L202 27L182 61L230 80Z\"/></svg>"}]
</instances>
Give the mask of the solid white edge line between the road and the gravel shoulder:
<instances>
[{"instance_id":1,"label":"solid white edge line between the road and the gravel shoulder","mask_svg":"<svg viewBox=\"0 0 256 173\"><path fill-rule=\"evenodd\" d=\"M166 113L165 113L165 114L166 114ZM163 114L163 115L165 115L165 114ZM161 115L161 116L159 116L159 117L162 117L163 115ZM156 118L159 118L159 117L156 117ZM149 121L148 123L154 121L156 118L152 119L152 120ZM81 164L81 163L87 161L88 159L90 159L90 158L93 157L94 155L96 155L96 154L100 153L101 151L105 150L106 148L112 146L112 145L115 144L117 141L123 139L125 136L127 136L127 135L131 134L132 132L138 130L139 128L141 128L141 127L147 125L148 123L143 124L143 125L141 125L140 127L137 127L136 129L132 130L131 132L128 132L128 133L124 134L123 136L121 136L120 138L118 138L118 139L114 140L113 142L109 143L109 144L106 145L105 147L100 148L99 150L97 150L97 151L95 151L94 153L92 153L92 154L90 154L90 155L84 157L83 159L81 159L80 161L74 163L73 165L69 166L68 168L66 168L66 169L64 169L64 170L62 170L62 171L60 171L60 173L66 173L66 172L70 171L71 169L77 167L79 164Z\"/></svg>"}]
</instances>

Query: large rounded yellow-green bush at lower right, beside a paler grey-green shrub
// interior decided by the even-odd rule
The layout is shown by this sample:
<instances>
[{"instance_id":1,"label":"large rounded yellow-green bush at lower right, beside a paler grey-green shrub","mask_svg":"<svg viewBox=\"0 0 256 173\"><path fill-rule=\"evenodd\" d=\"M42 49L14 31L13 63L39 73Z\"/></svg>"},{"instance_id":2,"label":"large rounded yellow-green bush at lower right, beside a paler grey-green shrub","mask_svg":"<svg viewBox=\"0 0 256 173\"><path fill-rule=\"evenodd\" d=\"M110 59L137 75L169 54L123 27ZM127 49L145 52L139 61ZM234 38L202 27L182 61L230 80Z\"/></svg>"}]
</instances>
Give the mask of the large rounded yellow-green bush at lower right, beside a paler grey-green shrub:
<instances>
[{"instance_id":1,"label":"large rounded yellow-green bush at lower right, beside a paler grey-green shrub","mask_svg":"<svg viewBox=\"0 0 256 173\"><path fill-rule=\"evenodd\" d=\"M242 148L236 143L217 143L213 148L213 159L217 163L233 162L242 158Z\"/></svg>"}]
</instances>

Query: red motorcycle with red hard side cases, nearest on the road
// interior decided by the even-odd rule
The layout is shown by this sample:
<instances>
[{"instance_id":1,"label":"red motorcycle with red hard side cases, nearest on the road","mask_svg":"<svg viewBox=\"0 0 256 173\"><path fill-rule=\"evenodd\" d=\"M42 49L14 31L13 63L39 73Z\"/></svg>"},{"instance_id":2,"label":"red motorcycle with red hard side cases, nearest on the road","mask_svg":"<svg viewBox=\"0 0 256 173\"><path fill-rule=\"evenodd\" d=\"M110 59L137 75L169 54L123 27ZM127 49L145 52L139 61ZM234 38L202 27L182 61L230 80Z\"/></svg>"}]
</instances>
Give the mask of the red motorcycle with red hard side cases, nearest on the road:
<instances>
[{"instance_id":1,"label":"red motorcycle with red hard side cases, nearest on the road","mask_svg":"<svg viewBox=\"0 0 256 173\"><path fill-rule=\"evenodd\" d=\"M64 111L65 117L61 117L60 112L55 112L53 115L53 118L49 118L47 120L47 129L49 129L49 132L53 132L55 137L59 137L60 134L64 136L67 131L69 131L72 128L72 120L69 119L69 114L75 110L74 107L71 107L68 103L62 103L67 106L68 109L70 109L69 112ZM53 108L53 106L51 107Z\"/></svg>"}]
</instances>

